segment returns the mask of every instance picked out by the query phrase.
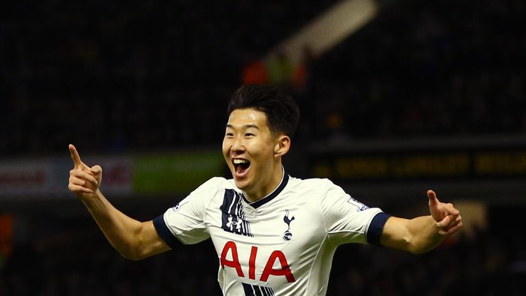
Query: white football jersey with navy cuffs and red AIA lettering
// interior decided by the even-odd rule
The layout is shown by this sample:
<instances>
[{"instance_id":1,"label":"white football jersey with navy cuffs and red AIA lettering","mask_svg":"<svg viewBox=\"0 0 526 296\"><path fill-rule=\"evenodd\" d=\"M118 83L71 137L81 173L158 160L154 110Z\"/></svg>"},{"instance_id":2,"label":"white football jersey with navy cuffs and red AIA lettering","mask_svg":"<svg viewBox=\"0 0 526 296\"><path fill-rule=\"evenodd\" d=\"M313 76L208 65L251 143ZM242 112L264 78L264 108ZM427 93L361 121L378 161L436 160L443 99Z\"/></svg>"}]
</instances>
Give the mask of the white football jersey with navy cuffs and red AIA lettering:
<instances>
[{"instance_id":1,"label":"white football jersey with navy cuffs and red AIA lettering","mask_svg":"<svg viewBox=\"0 0 526 296\"><path fill-rule=\"evenodd\" d=\"M325 295L338 245L379 243L388 215L326 179L284 174L250 203L233 180L214 177L155 218L171 247L212 238L223 295Z\"/></svg>"}]
</instances>

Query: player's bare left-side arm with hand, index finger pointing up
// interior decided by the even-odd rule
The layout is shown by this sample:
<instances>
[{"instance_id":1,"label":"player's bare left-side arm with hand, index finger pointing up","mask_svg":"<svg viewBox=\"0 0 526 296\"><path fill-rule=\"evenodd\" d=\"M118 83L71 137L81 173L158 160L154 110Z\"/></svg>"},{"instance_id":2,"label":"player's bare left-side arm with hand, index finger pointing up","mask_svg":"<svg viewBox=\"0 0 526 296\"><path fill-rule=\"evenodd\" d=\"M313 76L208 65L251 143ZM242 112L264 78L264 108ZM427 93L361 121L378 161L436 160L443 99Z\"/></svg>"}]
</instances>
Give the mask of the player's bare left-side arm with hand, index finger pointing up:
<instances>
[{"instance_id":1,"label":"player's bare left-side arm with hand, index finger pointing up","mask_svg":"<svg viewBox=\"0 0 526 296\"><path fill-rule=\"evenodd\" d=\"M75 167L69 172L69 190L86 205L93 219L113 247L125 258L139 260L170 249L158 236L152 221L140 222L117 210L99 186L102 168L88 167L80 160L75 146L69 145Z\"/></svg>"}]
</instances>

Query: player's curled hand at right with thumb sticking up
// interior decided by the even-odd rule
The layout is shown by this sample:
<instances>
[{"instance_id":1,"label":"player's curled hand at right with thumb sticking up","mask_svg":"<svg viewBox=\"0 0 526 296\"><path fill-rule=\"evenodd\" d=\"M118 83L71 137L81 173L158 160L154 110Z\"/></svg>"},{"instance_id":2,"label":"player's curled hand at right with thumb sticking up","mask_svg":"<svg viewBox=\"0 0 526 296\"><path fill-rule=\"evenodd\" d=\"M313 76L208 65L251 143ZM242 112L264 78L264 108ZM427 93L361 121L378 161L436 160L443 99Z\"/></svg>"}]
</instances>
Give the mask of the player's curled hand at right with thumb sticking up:
<instances>
[{"instance_id":1,"label":"player's curled hand at right with thumb sticking up","mask_svg":"<svg viewBox=\"0 0 526 296\"><path fill-rule=\"evenodd\" d=\"M442 235L457 232L462 227L462 217L453 204L444 204L438 201L433 190L427 190L429 197L429 212L436 221L438 233Z\"/></svg>"}]
</instances>

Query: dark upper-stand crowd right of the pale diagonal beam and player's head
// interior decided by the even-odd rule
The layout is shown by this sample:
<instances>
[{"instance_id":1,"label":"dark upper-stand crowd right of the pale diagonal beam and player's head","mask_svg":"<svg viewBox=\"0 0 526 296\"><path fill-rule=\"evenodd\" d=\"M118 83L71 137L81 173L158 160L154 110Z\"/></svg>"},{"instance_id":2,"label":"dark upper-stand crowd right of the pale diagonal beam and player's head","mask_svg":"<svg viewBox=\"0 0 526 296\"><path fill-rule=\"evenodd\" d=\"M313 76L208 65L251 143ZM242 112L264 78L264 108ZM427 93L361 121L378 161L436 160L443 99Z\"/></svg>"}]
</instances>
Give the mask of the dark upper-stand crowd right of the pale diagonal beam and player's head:
<instances>
[{"instance_id":1,"label":"dark upper-stand crowd right of the pale diagonal beam and player's head","mask_svg":"<svg viewBox=\"0 0 526 296\"><path fill-rule=\"evenodd\" d=\"M392 2L314 64L314 134L526 132L524 1Z\"/></svg>"}]
</instances>

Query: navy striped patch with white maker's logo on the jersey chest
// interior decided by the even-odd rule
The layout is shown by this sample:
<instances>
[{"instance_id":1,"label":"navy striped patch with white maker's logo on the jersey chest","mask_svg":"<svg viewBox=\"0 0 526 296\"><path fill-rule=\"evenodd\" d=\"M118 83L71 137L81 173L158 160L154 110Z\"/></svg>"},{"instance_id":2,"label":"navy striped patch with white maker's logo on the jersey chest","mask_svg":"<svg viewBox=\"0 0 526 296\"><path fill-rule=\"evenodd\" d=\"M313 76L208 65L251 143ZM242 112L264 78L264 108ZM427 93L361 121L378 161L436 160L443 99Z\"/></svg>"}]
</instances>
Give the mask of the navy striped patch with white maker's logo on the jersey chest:
<instances>
[{"instance_id":1,"label":"navy striped patch with white maker's logo on the jersey chest","mask_svg":"<svg viewBox=\"0 0 526 296\"><path fill-rule=\"evenodd\" d=\"M250 232L250 224L245 220L245 211L239 193L232 189L225 190L220 209L223 230L233 234L253 236Z\"/></svg>"}]
</instances>

